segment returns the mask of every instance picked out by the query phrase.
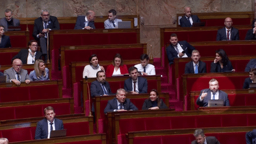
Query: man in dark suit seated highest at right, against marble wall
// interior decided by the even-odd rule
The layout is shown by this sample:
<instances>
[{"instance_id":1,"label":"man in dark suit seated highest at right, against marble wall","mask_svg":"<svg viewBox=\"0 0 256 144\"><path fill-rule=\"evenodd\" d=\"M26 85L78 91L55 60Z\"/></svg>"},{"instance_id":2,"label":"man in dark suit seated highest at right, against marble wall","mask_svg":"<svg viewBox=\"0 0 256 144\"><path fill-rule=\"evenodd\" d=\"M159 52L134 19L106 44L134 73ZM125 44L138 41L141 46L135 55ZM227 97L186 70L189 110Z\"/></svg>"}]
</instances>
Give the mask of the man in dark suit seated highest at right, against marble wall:
<instances>
[{"instance_id":1,"label":"man in dark suit seated highest at right, against marble wall","mask_svg":"<svg viewBox=\"0 0 256 144\"><path fill-rule=\"evenodd\" d=\"M193 23L199 23L199 17L197 15L191 15L191 8L184 8L185 15L180 19L181 27L192 27Z\"/></svg>"}]
</instances>

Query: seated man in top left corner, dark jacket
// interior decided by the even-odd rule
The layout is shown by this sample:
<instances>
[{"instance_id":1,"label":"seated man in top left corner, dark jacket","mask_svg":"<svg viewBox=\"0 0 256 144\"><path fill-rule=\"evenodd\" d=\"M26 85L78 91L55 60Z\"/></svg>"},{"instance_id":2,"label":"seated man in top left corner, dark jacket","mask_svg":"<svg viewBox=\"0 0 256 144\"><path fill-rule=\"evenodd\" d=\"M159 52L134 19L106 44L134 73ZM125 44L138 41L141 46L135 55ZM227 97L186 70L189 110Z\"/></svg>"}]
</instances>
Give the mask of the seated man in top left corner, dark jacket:
<instances>
[{"instance_id":1,"label":"seated man in top left corner, dark jacket","mask_svg":"<svg viewBox=\"0 0 256 144\"><path fill-rule=\"evenodd\" d=\"M9 26L19 26L20 20L16 18L12 18L12 10L11 9L5 9L5 18L2 18L0 20L0 25L4 26L4 30L8 31Z\"/></svg>"}]
</instances>

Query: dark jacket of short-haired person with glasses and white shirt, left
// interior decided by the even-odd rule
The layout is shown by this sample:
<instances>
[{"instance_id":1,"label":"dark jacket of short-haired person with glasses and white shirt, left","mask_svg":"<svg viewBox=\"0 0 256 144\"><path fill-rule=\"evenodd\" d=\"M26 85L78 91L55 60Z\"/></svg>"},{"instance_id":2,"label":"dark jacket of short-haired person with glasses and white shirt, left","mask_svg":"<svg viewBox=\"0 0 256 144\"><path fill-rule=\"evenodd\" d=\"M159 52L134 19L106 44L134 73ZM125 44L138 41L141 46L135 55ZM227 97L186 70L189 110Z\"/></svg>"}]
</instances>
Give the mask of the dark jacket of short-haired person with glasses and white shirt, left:
<instances>
[{"instance_id":1,"label":"dark jacket of short-haired person with glasses and white shirt, left","mask_svg":"<svg viewBox=\"0 0 256 144\"><path fill-rule=\"evenodd\" d=\"M42 53L40 51L37 51L35 60L41 59L41 56L42 56ZM12 57L12 61L14 59L20 59L23 62L23 64L27 64L27 57L28 57L28 49L22 49L17 55Z\"/></svg>"}]
</instances>

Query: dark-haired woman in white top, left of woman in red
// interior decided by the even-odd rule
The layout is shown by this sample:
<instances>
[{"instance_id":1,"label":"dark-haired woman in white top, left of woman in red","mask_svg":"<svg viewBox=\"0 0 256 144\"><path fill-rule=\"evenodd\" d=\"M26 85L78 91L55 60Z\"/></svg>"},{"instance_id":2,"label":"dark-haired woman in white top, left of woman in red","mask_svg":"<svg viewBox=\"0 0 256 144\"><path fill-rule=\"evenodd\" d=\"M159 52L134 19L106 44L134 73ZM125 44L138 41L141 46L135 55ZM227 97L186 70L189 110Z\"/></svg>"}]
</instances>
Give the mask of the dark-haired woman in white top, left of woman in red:
<instances>
[{"instance_id":1,"label":"dark-haired woman in white top, left of woman in red","mask_svg":"<svg viewBox=\"0 0 256 144\"><path fill-rule=\"evenodd\" d=\"M93 54L89 57L89 65L85 66L83 72L83 78L87 76L88 78L96 78L98 71L104 71L104 67L98 64L98 57L96 54Z\"/></svg>"}]
</instances>

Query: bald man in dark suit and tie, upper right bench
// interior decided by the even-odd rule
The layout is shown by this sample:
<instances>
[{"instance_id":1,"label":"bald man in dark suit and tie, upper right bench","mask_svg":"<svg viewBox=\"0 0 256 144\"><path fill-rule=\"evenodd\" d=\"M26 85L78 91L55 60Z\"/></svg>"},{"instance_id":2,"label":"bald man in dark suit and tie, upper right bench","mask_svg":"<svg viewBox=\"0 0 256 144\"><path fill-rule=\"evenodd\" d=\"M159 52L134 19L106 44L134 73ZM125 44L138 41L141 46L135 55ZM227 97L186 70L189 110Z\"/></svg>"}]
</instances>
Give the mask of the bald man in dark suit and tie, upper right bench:
<instances>
[{"instance_id":1,"label":"bald man in dark suit and tie, upper right bench","mask_svg":"<svg viewBox=\"0 0 256 144\"><path fill-rule=\"evenodd\" d=\"M238 29L232 27L232 19L227 17L224 24L225 27L217 31L216 40L239 40L239 31Z\"/></svg>"}]
</instances>

